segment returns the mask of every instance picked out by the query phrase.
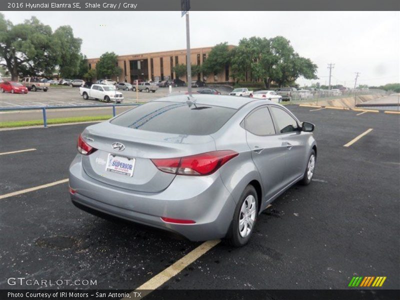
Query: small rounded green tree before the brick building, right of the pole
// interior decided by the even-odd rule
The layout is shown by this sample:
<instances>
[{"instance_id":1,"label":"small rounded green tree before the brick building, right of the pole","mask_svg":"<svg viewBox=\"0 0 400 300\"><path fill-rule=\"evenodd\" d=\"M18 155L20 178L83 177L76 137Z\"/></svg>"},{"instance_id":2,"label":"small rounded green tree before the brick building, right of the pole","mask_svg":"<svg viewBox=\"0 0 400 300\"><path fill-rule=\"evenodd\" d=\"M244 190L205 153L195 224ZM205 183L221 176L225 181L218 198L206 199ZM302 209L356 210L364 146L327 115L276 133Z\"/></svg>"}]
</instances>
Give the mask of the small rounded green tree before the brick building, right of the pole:
<instances>
[{"instance_id":1,"label":"small rounded green tree before the brick building, right of the pole","mask_svg":"<svg viewBox=\"0 0 400 300\"><path fill-rule=\"evenodd\" d=\"M230 51L227 42L216 44L208 53L207 58L201 65L201 71L205 75L215 75L225 69L230 62Z\"/></svg>"}]
</instances>

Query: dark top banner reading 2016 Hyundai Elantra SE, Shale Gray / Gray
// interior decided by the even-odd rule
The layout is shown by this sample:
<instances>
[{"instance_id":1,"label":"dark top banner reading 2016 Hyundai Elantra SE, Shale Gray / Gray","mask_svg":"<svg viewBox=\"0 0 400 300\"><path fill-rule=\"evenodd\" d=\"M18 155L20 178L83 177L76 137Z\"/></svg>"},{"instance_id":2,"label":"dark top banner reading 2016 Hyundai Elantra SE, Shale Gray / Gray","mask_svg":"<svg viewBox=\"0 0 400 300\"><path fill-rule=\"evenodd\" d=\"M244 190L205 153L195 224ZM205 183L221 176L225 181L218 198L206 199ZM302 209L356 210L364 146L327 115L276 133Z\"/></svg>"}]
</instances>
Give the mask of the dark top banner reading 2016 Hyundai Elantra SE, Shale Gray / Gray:
<instances>
[{"instance_id":1,"label":"dark top banner reading 2016 Hyundai Elantra SE, Shale Gray / Gray","mask_svg":"<svg viewBox=\"0 0 400 300\"><path fill-rule=\"evenodd\" d=\"M1 11L178 11L181 0L1 0ZM190 0L198 11L400 10L399 0Z\"/></svg>"}]
</instances>

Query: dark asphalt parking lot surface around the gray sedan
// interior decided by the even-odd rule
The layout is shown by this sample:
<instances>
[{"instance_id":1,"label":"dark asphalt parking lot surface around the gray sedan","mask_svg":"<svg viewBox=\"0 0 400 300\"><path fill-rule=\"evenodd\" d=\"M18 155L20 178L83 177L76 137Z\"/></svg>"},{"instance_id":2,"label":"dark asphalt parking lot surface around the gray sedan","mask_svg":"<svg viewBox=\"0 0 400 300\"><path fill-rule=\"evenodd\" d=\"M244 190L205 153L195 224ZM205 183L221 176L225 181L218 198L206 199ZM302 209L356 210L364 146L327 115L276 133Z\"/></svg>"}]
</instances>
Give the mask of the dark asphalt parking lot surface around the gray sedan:
<instances>
[{"instance_id":1,"label":"dark asphalt parking lot surface around the gray sedan","mask_svg":"<svg viewBox=\"0 0 400 300\"><path fill-rule=\"evenodd\" d=\"M246 246L217 243L160 288L348 289L358 275L387 276L381 288L399 288L400 115L287 107L316 125L313 182L277 198ZM0 156L1 195L67 178L86 125L0 131L1 153L35 149ZM87 214L67 188L0 198L1 289L31 288L7 284L23 276L133 290L201 244Z\"/></svg>"}]
</instances>

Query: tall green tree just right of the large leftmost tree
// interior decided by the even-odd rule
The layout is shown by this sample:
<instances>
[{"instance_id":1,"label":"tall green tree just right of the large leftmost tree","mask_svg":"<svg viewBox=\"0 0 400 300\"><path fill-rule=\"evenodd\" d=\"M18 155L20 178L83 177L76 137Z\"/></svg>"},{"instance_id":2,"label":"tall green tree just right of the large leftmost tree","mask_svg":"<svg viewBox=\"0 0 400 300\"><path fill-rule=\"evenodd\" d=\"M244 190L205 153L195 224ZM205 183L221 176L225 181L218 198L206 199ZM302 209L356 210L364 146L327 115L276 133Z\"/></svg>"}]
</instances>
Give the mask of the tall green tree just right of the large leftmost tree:
<instances>
[{"instance_id":1,"label":"tall green tree just right of the large leftmost tree","mask_svg":"<svg viewBox=\"0 0 400 300\"><path fill-rule=\"evenodd\" d=\"M76 75L83 75L80 70L80 63L84 58L80 53L80 45L82 40L73 36L72 28L69 25L58 27L53 36L57 41L59 48L58 55L58 69L59 74L63 78L73 78ZM87 63L86 63L87 65Z\"/></svg>"}]
</instances>

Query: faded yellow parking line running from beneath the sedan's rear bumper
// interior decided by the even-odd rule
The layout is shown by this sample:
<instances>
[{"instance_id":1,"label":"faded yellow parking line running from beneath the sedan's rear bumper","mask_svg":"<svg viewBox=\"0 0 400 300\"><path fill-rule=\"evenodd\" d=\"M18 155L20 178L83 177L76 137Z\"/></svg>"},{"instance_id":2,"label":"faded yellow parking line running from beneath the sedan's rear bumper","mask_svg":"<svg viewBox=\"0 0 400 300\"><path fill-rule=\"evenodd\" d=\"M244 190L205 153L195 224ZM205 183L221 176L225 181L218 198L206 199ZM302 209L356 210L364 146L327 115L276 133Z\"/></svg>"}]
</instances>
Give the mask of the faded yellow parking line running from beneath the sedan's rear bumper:
<instances>
[{"instance_id":1,"label":"faded yellow parking line running from beneath the sedan's rear bumper","mask_svg":"<svg viewBox=\"0 0 400 300\"><path fill-rule=\"evenodd\" d=\"M179 260L172 263L166 269L162 270L161 272L159 272L158 274L156 274L155 276L153 276L152 278L150 278L149 280L144 282L142 285L137 287L135 290L131 291L129 293L130 297L132 298L134 295L134 292L137 292L137 290L143 290L143 289L153 290L153 289L160 287L162 284L164 284L170 278L172 278L173 276L178 274L180 271L182 271L186 266L191 264L194 260L198 259L201 255L205 254L211 248L216 246L220 241L221 241L220 239L215 239L215 240L208 240L208 241L203 242L201 245L199 245L195 249L191 250L189 253L184 255L182 258L180 258ZM129 297L126 297L123 299L129 299Z\"/></svg>"}]
</instances>

